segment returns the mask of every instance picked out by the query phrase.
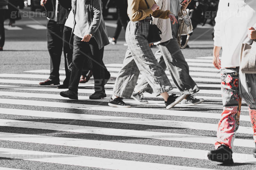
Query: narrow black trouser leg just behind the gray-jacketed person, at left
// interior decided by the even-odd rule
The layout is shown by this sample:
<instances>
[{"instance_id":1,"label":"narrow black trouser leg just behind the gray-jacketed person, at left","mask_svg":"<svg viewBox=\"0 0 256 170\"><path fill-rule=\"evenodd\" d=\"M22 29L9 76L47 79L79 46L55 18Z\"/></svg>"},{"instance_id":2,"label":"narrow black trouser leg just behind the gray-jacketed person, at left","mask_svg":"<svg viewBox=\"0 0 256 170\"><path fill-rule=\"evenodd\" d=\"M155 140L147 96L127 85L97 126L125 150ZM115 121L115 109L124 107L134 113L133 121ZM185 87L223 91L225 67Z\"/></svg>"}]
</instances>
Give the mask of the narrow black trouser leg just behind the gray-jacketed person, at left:
<instances>
[{"instance_id":1,"label":"narrow black trouser leg just behind the gray-jacketed person, at left","mask_svg":"<svg viewBox=\"0 0 256 170\"><path fill-rule=\"evenodd\" d=\"M68 65L72 62L73 57L73 41L74 36L72 35L72 28L64 26L63 30L63 53L65 58L65 73L66 78L63 81L64 85L69 85L70 72L68 70ZM70 42L70 45L69 45Z\"/></svg>"}]
</instances>

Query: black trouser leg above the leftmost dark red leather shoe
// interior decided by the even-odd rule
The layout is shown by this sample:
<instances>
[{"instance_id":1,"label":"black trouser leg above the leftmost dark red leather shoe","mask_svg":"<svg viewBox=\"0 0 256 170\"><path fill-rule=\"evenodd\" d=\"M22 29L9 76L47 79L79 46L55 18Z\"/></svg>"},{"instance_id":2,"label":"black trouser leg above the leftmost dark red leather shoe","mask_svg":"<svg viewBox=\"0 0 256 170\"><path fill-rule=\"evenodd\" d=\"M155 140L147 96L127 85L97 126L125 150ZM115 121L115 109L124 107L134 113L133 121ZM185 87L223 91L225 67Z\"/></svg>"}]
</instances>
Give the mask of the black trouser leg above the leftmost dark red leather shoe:
<instances>
[{"instance_id":1,"label":"black trouser leg above the leftmost dark red leather shoe","mask_svg":"<svg viewBox=\"0 0 256 170\"><path fill-rule=\"evenodd\" d=\"M60 59L63 47L64 24L57 24L53 20L47 21L47 46L51 60L50 79L60 80Z\"/></svg>"}]
</instances>

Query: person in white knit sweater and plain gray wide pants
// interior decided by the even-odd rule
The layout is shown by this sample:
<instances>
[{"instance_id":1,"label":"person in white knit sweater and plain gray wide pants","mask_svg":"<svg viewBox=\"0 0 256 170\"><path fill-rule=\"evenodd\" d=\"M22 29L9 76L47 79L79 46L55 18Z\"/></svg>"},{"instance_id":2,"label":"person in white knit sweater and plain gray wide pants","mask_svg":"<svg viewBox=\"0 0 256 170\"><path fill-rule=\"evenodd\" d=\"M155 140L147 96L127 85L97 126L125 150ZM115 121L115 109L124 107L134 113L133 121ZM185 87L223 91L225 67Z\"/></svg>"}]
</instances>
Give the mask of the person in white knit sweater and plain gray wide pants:
<instances>
[{"instance_id":1,"label":"person in white knit sweater and plain gray wide pants","mask_svg":"<svg viewBox=\"0 0 256 170\"><path fill-rule=\"evenodd\" d=\"M170 10L177 19L178 15L182 15L182 12L186 10L188 4L191 2L190 0L180 4L180 0L155 1L159 4L161 9ZM199 88L189 75L188 63L180 50L180 46L176 38L179 29L178 24L175 23L174 25L171 25L170 21L159 18L153 18L153 23L162 31L162 40L157 44L159 50L156 51L156 59L164 70L168 68L174 84L182 94L186 95L181 104L185 106L192 106L202 103L204 99L196 99L192 96L192 94L199 91ZM132 98L140 103L147 103L147 101L143 99L143 95L141 95L143 92L153 93L152 87L145 78L142 78L135 87Z\"/></svg>"}]
</instances>

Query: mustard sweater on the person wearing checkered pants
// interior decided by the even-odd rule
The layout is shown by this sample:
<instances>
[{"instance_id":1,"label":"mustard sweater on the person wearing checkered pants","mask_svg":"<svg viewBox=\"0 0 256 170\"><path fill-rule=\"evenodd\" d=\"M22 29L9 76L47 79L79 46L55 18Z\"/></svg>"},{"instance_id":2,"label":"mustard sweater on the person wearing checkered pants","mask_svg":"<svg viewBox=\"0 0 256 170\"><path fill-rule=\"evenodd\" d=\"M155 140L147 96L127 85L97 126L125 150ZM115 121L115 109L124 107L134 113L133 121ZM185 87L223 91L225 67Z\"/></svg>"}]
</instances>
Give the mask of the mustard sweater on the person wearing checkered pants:
<instances>
[{"instance_id":1,"label":"mustard sweater on the person wearing checkered pants","mask_svg":"<svg viewBox=\"0 0 256 170\"><path fill-rule=\"evenodd\" d=\"M159 9L153 12L151 7L153 4L156 4L156 2L154 0L147 0L147 2L149 9L145 0L128 0L127 13L131 21L139 21L145 19L149 16L149 14L155 18L167 19L169 14L171 14L169 10L163 11Z\"/></svg>"}]
</instances>

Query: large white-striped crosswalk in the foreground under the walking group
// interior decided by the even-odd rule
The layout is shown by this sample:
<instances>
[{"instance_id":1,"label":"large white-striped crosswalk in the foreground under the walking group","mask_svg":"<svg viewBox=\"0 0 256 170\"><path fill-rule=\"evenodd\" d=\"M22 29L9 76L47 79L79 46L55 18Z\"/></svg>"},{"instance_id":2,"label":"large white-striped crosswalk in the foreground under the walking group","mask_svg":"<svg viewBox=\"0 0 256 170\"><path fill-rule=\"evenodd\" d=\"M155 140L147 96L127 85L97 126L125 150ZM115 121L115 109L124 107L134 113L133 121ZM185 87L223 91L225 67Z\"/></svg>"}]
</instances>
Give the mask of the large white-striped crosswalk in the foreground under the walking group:
<instances>
[{"instance_id":1,"label":"large white-striped crosswalk in the foreground under the walking group","mask_svg":"<svg viewBox=\"0 0 256 170\"><path fill-rule=\"evenodd\" d=\"M63 89L38 85L48 78L49 70L1 73L0 157L4 159L0 159L0 169L226 169L207 158L222 112L219 70L210 57L186 60L201 89L196 97L205 102L178 104L171 110L164 108L161 97L149 93L144 93L148 104L124 99L131 108L109 107L122 67L118 63L106 64L111 78L105 86L107 97L101 100L89 99L93 81L80 84L79 100L70 100L59 95ZM64 80L65 71L60 70L60 75ZM171 83L172 92L178 94ZM255 169L252 133L243 102L234 141L237 167L228 168ZM20 166L11 163L18 160Z\"/></svg>"}]
</instances>

